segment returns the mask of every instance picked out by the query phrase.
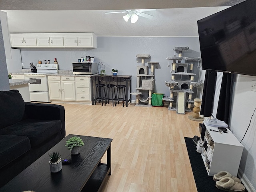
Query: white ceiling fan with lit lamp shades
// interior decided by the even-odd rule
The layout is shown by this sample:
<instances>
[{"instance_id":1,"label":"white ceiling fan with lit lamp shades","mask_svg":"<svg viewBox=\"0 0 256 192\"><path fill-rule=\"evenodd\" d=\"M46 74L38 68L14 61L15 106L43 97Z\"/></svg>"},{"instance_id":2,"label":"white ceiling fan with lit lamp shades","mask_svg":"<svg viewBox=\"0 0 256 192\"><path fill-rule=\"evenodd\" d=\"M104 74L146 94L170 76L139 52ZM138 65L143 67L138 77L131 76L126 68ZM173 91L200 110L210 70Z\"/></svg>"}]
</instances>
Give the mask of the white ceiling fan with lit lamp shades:
<instances>
[{"instance_id":1,"label":"white ceiling fan with lit lamp shades","mask_svg":"<svg viewBox=\"0 0 256 192\"><path fill-rule=\"evenodd\" d=\"M128 22L129 18L131 18L131 23L136 23L138 20L139 16L152 19L154 16L150 14L146 14L143 12L146 11L155 11L156 9L129 9L125 11L117 11L117 12L107 12L106 14L111 14L111 13L128 13L125 16L123 16L124 20Z\"/></svg>"}]
</instances>

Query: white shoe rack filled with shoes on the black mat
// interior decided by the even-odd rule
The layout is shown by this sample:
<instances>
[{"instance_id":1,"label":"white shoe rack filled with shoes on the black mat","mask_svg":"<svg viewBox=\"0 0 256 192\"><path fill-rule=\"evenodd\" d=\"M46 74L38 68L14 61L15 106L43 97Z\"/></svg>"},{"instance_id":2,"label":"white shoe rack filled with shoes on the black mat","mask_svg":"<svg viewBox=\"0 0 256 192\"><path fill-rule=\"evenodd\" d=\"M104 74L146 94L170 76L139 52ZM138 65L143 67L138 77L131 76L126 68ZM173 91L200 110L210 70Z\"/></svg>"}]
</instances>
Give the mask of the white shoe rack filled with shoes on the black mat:
<instances>
[{"instance_id":1,"label":"white shoe rack filled with shoes on the black mat","mask_svg":"<svg viewBox=\"0 0 256 192\"><path fill-rule=\"evenodd\" d=\"M214 141L214 149L212 153L210 169L208 170L206 168L208 175L213 176L220 171L227 171L230 172L230 174L233 176L237 176L244 146L242 146L242 144L237 140L237 138L228 128L228 133L222 133L210 131L210 129L218 131L217 127L208 126L205 122L204 125L206 126L206 130L203 144L205 141L208 141L206 138L208 133L210 134L209 139ZM201 156L205 163L207 156L204 157L204 150L205 149L203 147ZM209 150L210 148L207 147L206 154Z\"/></svg>"}]
</instances>

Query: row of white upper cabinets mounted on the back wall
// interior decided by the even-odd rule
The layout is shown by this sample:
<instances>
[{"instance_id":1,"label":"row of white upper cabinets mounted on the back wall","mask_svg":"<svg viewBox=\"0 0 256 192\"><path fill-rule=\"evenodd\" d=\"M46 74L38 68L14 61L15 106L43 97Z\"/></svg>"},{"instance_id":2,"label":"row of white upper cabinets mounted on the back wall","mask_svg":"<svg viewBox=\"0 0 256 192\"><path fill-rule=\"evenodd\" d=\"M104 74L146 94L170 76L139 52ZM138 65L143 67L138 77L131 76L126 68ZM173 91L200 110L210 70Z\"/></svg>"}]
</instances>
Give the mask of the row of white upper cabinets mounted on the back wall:
<instances>
[{"instance_id":1,"label":"row of white upper cabinets mounted on the back wall","mask_svg":"<svg viewBox=\"0 0 256 192\"><path fill-rule=\"evenodd\" d=\"M20 48L96 48L97 37L93 33L24 33L10 34L12 47Z\"/></svg>"}]
</instances>

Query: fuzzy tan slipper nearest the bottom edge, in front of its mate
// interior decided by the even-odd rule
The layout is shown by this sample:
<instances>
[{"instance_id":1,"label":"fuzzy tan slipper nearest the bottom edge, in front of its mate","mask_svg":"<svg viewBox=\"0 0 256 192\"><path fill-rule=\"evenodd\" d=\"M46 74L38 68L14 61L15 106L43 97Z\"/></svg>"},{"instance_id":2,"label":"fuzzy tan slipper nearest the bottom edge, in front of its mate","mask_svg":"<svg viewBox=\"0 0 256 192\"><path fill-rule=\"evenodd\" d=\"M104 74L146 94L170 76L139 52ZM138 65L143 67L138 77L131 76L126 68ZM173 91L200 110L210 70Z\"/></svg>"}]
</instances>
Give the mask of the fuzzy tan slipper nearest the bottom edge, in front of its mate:
<instances>
[{"instance_id":1,"label":"fuzzy tan slipper nearest the bottom edge, in front of its mate","mask_svg":"<svg viewBox=\"0 0 256 192\"><path fill-rule=\"evenodd\" d=\"M245 187L242 183L235 182L230 177L224 177L219 181L216 181L215 185L218 189L229 192L244 192Z\"/></svg>"}]
</instances>

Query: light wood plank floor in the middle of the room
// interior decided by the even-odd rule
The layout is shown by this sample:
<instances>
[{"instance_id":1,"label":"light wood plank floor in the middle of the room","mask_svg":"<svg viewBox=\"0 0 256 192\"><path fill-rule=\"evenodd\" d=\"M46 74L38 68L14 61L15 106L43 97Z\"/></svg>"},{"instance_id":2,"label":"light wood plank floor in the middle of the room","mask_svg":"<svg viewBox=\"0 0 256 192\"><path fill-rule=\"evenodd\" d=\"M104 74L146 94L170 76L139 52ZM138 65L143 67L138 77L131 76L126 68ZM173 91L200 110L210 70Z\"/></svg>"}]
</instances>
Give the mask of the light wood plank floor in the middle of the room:
<instances>
[{"instance_id":1,"label":"light wood plank floor in the middle of the room","mask_svg":"<svg viewBox=\"0 0 256 192\"><path fill-rule=\"evenodd\" d=\"M103 192L197 191L184 141L199 135L199 122L188 119L191 113L135 104L61 105L66 111L66 135L113 139L112 174Z\"/></svg>"}]
</instances>

